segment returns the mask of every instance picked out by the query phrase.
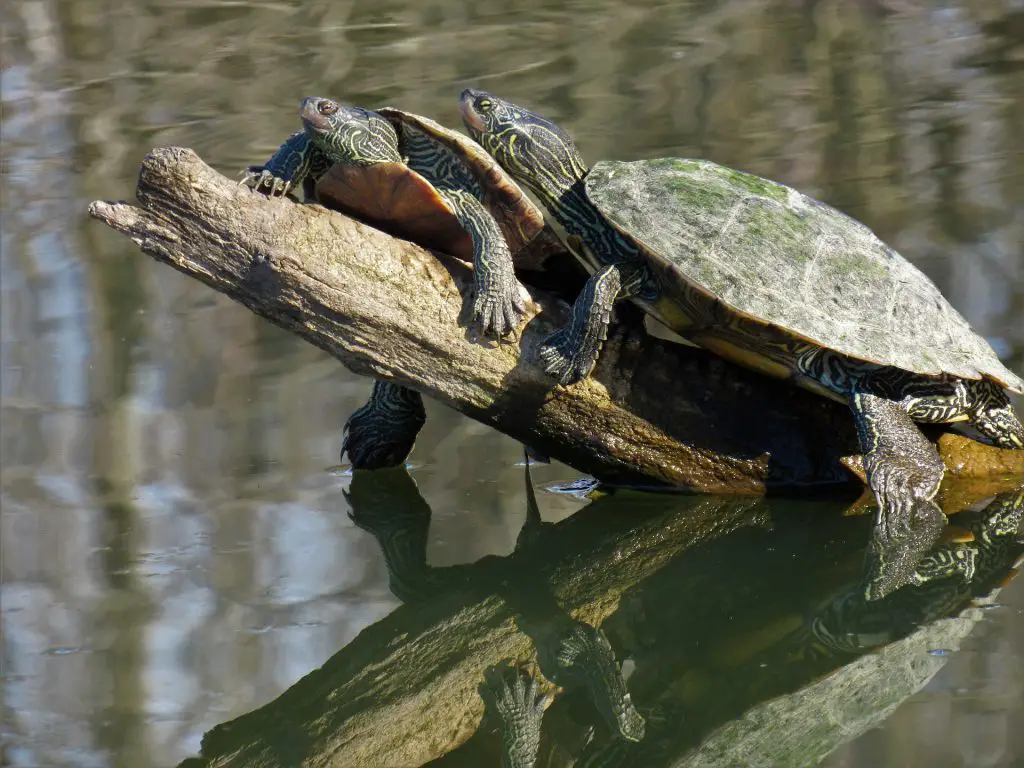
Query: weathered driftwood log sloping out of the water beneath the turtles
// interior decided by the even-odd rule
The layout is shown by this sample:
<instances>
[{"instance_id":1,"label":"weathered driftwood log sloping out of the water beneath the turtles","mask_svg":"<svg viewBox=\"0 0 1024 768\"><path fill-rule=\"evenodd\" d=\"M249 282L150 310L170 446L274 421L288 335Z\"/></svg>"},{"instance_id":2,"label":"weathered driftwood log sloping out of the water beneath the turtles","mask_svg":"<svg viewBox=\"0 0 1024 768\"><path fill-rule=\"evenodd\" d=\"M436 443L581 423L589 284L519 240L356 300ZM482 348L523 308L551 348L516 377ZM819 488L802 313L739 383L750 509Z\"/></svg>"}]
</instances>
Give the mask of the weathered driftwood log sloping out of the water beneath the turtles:
<instances>
[{"instance_id":1,"label":"weathered driftwood log sloping out of the water beneath the turtles","mask_svg":"<svg viewBox=\"0 0 1024 768\"><path fill-rule=\"evenodd\" d=\"M321 206L266 199L190 150L154 150L136 195L138 206L97 201L89 212L350 370L601 479L757 494L848 477L838 460L856 442L845 408L655 339L636 316L613 327L592 378L556 387L531 360L566 317L557 296L531 290L515 343L480 341L460 324L471 273L454 259ZM1021 452L956 444L959 473L1024 472Z\"/></svg>"}]
</instances>

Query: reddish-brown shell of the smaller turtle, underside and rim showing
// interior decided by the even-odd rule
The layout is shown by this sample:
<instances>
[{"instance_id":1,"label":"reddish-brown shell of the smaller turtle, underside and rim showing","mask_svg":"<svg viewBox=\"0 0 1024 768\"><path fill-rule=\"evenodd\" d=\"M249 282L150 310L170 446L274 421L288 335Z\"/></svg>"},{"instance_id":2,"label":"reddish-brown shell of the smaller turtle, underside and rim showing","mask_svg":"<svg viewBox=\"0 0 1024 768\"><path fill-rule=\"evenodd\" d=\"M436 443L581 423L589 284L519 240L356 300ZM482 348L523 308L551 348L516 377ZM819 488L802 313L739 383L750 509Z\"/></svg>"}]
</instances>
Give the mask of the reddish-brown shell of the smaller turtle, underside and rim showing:
<instances>
[{"instance_id":1,"label":"reddish-brown shell of the smaller turtle, underside and rim showing","mask_svg":"<svg viewBox=\"0 0 1024 768\"><path fill-rule=\"evenodd\" d=\"M483 204L505 234L513 255L535 242L545 254L562 250L545 225L544 214L483 148L468 136L428 118L392 108L377 113L399 137L407 128L430 136L449 150L478 180ZM336 163L316 183L316 200L352 214L391 234L426 248L473 259L473 244L430 181L401 163L354 166Z\"/></svg>"}]
</instances>

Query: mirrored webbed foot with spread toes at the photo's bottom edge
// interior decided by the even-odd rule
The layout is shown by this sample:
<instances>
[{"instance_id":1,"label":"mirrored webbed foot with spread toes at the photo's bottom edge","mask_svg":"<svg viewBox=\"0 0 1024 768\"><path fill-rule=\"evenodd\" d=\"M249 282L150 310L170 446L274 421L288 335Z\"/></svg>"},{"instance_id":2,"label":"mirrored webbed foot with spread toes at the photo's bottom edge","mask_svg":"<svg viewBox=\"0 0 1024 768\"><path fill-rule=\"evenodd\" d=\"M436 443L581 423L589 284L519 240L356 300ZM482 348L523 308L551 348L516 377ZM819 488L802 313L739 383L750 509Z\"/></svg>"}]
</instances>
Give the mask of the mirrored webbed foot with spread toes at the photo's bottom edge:
<instances>
[{"instance_id":1,"label":"mirrored webbed foot with spread toes at the photo's bottom edge","mask_svg":"<svg viewBox=\"0 0 1024 768\"><path fill-rule=\"evenodd\" d=\"M480 686L487 715L498 722L505 768L531 768L541 749L541 721L551 701L537 678L518 667L488 670Z\"/></svg>"}]
</instances>

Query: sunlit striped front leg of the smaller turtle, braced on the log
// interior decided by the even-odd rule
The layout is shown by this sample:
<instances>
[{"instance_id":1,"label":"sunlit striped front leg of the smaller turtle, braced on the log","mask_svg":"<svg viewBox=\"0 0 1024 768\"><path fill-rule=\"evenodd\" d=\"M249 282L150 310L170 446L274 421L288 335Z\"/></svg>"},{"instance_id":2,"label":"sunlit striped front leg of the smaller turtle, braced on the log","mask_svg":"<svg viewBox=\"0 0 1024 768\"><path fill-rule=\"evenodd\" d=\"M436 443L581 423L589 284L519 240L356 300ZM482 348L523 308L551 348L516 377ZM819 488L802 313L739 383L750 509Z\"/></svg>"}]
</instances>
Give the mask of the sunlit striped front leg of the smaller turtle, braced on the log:
<instances>
[{"instance_id":1,"label":"sunlit striped front leg of the smaller turtle, braced on the log","mask_svg":"<svg viewBox=\"0 0 1024 768\"><path fill-rule=\"evenodd\" d=\"M462 189L439 191L473 242L473 323L483 334L506 336L519 325L526 305L505 236L473 195Z\"/></svg>"}]
</instances>

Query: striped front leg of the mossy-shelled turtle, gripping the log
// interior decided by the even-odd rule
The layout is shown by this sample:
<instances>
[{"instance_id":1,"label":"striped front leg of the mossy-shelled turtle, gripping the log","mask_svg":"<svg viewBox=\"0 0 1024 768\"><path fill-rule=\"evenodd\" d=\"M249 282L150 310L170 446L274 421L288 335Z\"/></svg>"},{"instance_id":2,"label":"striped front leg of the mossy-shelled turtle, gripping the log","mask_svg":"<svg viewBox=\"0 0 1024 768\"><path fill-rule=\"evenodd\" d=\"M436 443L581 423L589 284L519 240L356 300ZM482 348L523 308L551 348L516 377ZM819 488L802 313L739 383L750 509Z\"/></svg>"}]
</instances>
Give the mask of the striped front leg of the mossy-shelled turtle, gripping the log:
<instances>
[{"instance_id":1,"label":"striped front leg of the mossy-shelled turtle, gripping the log","mask_svg":"<svg viewBox=\"0 0 1024 768\"><path fill-rule=\"evenodd\" d=\"M608 337L611 308L620 299L636 295L642 282L640 270L626 264L609 264L594 273L572 304L569 325L541 345L538 355L544 372L563 386L587 376Z\"/></svg>"}]
</instances>

